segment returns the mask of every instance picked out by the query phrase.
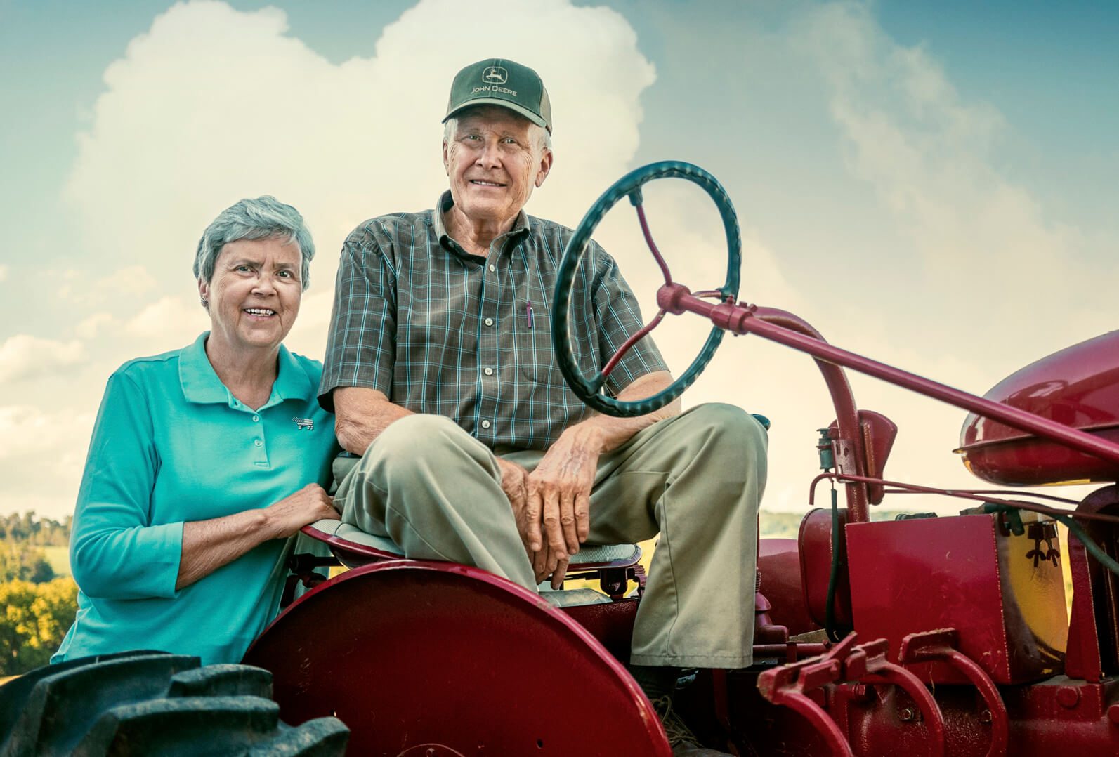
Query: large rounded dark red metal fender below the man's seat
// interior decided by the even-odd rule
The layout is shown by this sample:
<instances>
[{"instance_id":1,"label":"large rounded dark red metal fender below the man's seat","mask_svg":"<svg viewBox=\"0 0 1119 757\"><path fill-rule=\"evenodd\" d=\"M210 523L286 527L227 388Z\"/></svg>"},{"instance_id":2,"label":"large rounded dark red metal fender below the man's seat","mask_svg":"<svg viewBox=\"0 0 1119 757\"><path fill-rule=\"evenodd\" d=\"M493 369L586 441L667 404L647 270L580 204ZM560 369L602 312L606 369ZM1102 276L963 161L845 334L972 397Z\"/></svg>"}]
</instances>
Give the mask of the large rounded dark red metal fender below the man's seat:
<instances>
[{"instance_id":1,"label":"large rounded dark red metal fender below the man's seat","mask_svg":"<svg viewBox=\"0 0 1119 757\"><path fill-rule=\"evenodd\" d=\"M272 671L285 721L337 713L351 755L671 755L645 694L586 630L477 568L345 573L292 604L245 663Z\"/></svg>"}]
</instances>

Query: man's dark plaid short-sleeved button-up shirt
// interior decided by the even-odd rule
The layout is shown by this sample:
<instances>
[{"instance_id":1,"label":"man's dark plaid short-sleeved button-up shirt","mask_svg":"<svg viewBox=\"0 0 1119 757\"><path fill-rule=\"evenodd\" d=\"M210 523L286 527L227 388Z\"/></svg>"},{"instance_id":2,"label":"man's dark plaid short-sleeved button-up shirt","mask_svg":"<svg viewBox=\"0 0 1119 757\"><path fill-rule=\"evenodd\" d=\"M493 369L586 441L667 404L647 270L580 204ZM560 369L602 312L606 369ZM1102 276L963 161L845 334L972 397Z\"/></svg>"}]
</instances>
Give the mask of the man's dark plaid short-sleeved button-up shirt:
<instances>
[{"instance_id":1,"label":"man's dark plaid short-sleeved button-up shirt","mask_svg":"<svg viewBox=\"0 0 1119 757\"><path fill-rule=\"evenodd\" d=\"M567 388L552 353L556 267L573 231L525 215L488 257L446 235L441 211L394 214L342 244L319 401L368 387L415 413L444 415L490 448L545 450L592 410ZM592 376L641 328L618 265L590 243L572 297L573 350ZM617 395L667 370L642 339L611 372Z\"/></svg>"}]
</instances>

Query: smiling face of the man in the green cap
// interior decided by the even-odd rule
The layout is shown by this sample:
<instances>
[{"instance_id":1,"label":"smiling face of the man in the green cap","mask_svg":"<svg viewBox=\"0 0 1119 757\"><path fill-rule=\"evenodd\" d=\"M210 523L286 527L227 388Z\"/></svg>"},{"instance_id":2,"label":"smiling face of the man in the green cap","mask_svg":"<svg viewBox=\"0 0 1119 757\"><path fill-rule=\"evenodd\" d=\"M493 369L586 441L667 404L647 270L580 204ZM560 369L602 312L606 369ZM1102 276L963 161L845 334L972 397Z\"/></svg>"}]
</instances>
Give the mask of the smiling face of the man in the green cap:
<instances>
[{"instance_id":1,"label":"smiling face of the man in the green cap","mask_svg":"<svg viewBox=\"0 0 1119 757\"><path fill-rule=\"evenodd\" d=\"M451 142L443 143L443 165L454 205L471 221L510 221L552 168L552 151L537 149L532 123L505 107L467 111Z\"/></svg>"}]
</instances>

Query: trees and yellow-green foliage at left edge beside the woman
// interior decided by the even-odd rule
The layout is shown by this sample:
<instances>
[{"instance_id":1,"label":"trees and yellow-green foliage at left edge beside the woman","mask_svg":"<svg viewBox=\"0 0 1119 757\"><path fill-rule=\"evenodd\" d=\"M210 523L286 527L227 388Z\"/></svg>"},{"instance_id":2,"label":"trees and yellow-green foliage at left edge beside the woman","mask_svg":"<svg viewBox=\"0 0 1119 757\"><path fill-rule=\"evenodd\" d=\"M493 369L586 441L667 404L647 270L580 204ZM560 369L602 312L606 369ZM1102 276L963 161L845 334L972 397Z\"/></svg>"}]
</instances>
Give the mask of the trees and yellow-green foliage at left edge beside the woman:
<instances>
[{"instance_id":1,"label":"trees and yellow-green foliage at left edge beside the woman","mask_svg":"<svg viewBox=\"0 0 1119 757\"><path fill-rule=\"evenodd\" d=\"M47 664L74 623L77 585L44 550L69 543L70 521L0 515L0 676Z\"/></svg>"}]
</instances>

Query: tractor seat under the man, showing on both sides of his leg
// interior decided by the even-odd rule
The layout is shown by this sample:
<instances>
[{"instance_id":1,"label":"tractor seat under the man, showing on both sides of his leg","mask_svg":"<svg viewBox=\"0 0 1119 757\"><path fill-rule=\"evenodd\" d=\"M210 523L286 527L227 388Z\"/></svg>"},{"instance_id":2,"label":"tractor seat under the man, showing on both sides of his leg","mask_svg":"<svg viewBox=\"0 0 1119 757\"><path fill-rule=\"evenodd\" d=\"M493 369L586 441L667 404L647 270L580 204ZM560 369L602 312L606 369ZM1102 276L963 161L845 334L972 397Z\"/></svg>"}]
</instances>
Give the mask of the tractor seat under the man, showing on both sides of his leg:
<instances>
[{"instance_id":1,"label":"tractor seat under the man, showing on both sides of his leg","mask_svg":"<svg viewBox=\"0 0 1119 757\"><path fill-rule=\"evenodd\" d=\"M347 568L404 557L388 537L367 533L340 520L325 519L309 523L303 527L303 533L326 542L338 561ZM579 553L572 557L567 571L575 574L632 568L640 559L641 548L637 545L583 545Z\"/></svg>"}]
</instances>

